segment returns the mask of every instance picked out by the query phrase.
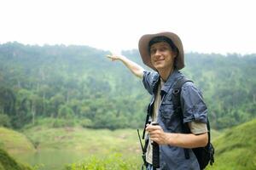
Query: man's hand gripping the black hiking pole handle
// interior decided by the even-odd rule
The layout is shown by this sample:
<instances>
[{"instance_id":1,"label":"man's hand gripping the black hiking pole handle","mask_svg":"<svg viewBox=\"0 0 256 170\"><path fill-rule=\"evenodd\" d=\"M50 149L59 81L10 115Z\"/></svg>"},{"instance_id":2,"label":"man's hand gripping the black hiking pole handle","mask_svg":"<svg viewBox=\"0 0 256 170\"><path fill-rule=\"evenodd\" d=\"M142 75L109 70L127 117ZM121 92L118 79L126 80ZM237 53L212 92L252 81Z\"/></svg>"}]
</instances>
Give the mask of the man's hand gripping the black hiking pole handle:
<instances>
[{"instance_id":1,"label":"man's hand gripping the black hiking pole handle","mask_svg":"<svg viewBox=\"0 0 256 170\"><path fill-rule=\"evenodd\" d=\"M159 125L148 124L146 131L149 133L150 139L157 144L168 144L169 135Z\"/></svg>"}]
</instances>

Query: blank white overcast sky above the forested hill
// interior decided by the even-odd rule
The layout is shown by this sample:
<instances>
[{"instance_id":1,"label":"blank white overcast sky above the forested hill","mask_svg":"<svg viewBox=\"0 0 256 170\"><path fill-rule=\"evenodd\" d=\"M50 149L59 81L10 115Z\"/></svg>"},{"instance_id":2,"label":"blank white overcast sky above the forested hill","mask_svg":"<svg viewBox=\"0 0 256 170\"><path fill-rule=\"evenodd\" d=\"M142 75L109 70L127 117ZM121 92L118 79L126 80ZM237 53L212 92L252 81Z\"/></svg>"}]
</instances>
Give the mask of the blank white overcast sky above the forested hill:
<instances>
[{"instance_id":1,"label":"blank white overcast sky above the forested hill","mask_svg":"<svg viewBox=\"0 0 256 170\"><path fill-rule=\"evenodd\" d=\"M254 0L0 0L0 43L87 45L119 53L172 31L185 52L256 53Z\"/></svg>"}]
</instances>

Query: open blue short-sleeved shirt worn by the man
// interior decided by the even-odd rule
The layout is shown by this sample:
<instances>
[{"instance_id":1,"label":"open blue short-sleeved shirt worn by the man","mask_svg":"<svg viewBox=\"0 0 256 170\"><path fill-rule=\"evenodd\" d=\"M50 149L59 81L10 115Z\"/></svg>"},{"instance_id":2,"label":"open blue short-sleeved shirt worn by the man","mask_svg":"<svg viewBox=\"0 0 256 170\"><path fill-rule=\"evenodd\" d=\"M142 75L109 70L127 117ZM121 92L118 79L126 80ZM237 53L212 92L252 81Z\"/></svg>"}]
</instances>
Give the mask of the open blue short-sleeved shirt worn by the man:
<instances>
[{"instance_id":1,"label":"open blue short-sleeved shirt worn by the man","mask_svg":"<svg viewBox=\"0 0 256 170\"><path fill-rule=\"evenodd\" d=\"M173 85L178 79L184 77L179 71L173 71L161 88L161 102L157 120L166 133L182 133L182 122L207 123L207 105L205 105L201 91L195 88L193 82L183 84L180 100L183 111L183 120L174 114L172 103ZM143 85L152 95L149 108L154 105L154 97L160 83L160 75L157 72L144 71ZM184 150L171 145L160 145L160 169L161 170L199 170L199 164L192 150L189 150L189 159L184 156Z\"/></svg>"}]
</instances>

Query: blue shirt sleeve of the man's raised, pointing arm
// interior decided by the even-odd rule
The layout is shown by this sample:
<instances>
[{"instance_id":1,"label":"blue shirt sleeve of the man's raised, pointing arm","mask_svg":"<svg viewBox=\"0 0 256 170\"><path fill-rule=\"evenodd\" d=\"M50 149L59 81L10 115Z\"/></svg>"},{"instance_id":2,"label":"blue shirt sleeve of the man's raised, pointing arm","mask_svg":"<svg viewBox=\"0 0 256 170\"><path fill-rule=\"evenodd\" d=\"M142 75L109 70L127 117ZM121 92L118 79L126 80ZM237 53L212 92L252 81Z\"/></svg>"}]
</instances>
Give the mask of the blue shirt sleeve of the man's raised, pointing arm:
<instances>
[{"instance_id":1,"label":"blue shirt sleeve of the man's raised, pointing arm","mask_svg":"<svg viewBox=\"0 0 256 170\"><path fill-rule=\"evenodd\" d=\"M143 85L149 94L153 94L154 82L158 79L158 74L151 71L143 71Z\"/></svg>"}]
</instances>

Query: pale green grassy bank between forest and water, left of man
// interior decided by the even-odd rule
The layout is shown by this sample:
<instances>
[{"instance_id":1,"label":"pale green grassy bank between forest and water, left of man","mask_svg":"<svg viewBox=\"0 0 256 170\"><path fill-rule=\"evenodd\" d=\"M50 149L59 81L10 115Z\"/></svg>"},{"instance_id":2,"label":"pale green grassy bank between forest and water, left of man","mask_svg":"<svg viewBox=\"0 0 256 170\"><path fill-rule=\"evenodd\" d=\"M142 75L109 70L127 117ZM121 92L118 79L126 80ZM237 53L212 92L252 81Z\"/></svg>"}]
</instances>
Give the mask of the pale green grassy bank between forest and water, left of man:
<instances>
[{"instance_id":1,"label":"pale green grassy bank between forest and water, left of man","mask_svg":"<svg viewBox=\"0 0 256 170\"><path fill-rule=\"evenodd\" d=\"M86 129L82 127L48 128L32 127L24 131L38 150L79 150L87 154L108 154L110 152L139 153L137 131L122 129Z\"/></svg>"}]
</instances>

